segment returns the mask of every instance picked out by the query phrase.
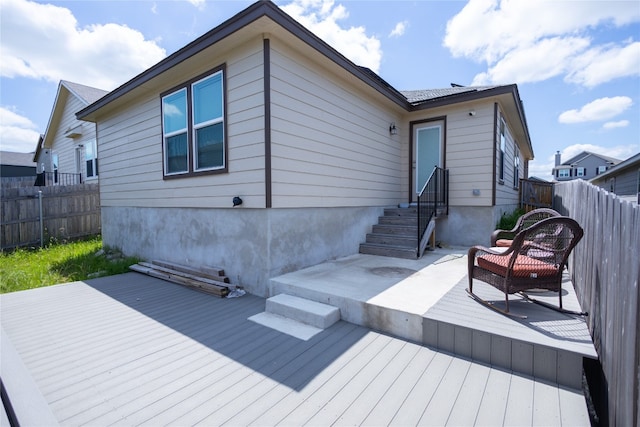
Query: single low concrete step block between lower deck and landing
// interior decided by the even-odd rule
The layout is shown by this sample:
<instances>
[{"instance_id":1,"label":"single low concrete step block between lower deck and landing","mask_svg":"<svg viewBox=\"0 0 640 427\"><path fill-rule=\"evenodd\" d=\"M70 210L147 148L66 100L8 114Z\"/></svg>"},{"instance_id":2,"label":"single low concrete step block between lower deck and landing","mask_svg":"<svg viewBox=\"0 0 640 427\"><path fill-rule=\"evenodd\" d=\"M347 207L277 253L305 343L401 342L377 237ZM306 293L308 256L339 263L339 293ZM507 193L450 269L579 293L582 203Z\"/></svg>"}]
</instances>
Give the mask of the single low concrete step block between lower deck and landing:
<instances>
[{"instance_id":1,"label":"single low concrete step block between lower deck and landing","mask_svg":"<svg viewBox=\"0 0 640 427\"><path fill-rule=\"evenodd\" d=\"M337 307L287 294L267 299L265 311L320 329L326 329L340 320L340 309Z\"/></svg>"}]
</instances>

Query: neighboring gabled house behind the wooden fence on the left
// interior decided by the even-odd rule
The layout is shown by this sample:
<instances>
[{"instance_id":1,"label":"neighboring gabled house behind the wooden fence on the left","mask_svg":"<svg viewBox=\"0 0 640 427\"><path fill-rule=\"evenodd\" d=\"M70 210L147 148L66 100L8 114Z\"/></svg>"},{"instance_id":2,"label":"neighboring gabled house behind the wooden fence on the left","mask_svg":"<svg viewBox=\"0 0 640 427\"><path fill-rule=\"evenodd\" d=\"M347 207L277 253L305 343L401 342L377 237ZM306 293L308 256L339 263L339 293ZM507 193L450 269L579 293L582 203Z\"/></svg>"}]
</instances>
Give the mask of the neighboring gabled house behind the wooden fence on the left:
<instances>
[{"instance_id":1,"label":"neighboring gabled house behind the wooden fence on the left","mask_svg":"<svg viewBox=\"0 0 640 427\"><path fill-rule=\"evenodd\" d=\"M79 184L98 179L96 127L76 119L75 113L107 93L60 81L47 129L33 157L38 164L38 174L42 174L39 184Z\"/></svg>"}]
</instances>

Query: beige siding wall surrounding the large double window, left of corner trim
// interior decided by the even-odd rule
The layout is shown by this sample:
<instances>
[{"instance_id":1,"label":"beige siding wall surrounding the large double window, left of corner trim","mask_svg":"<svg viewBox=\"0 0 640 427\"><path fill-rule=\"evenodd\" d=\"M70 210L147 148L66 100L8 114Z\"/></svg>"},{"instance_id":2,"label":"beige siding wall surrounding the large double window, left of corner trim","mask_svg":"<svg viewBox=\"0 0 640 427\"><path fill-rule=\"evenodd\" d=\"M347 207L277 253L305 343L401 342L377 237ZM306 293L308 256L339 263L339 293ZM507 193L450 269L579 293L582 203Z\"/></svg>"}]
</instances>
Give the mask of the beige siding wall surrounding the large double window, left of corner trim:
<instances>
[{"instance_id":1,"label":"beige siding wall surrounding the large double window, left of corner trim","mask_svg":"<svg viewBox=\"0 0 640 427\"><path fill-rule=\"evenodd\" d=\"M192 74L165 82L126 110L99 120L101 202L104 206L265 206L262 40L212 56L193 58ZM163 179L159 93L226 63L229 172Z\"/></svg>"}]
</instances>

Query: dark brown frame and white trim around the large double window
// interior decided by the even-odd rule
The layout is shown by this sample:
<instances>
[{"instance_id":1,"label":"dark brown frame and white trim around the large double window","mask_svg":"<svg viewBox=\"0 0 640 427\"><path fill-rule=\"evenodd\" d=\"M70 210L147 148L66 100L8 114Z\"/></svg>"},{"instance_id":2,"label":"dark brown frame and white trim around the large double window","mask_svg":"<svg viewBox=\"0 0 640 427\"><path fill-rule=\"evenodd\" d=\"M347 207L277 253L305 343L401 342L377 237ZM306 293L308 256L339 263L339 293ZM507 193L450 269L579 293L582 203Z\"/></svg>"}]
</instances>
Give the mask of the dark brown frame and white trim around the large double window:
<instances>
[{"instance_id":1,"label":"dark brown frame and white trim around the large double window","mask_svg":"<svg viewBox=\"0 0 640 427\"><path fill-rule=\"evenodd\" d=\"M195 126L193 123L193 86L198 82L205 80L209 77L213 77L215 74L222 74L222 144L223 144L223 163L222 167L207 168L207 169L195 169ZM185 90L187 93L187 170L184 172L167 173L167 159L166 159L166 143L164 134L164 110L163 99L173 93L180 90ZM219 121L217 123L220 123ZM179 179L193 176L202 175L216 175L229 172L229 142L227 132L227 68L226 64L221 64L215 68L210 69L198 76L189 79L171 89L162 92L160 94L160 137L162 144L162 177L165 180Z\"/></svg>"}]
</instances>

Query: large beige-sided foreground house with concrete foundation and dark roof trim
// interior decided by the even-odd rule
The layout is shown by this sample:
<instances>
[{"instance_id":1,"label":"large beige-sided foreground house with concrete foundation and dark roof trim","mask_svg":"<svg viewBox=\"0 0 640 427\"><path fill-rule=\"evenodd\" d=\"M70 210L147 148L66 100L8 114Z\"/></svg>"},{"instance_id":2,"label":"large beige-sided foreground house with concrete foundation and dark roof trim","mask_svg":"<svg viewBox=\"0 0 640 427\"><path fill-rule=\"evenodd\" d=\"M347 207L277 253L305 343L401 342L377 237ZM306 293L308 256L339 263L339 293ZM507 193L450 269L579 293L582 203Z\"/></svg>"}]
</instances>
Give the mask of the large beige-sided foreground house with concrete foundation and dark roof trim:
<instances>
[{"instance_id":1,"label":"large beige-sided foreground house with concrete foundation and dark roof trim","mask_svg":"<svg viewBox=\"0 0 640 427\"><path fill-rule=\"evenodd\" d=\"M263 296L357 253L436 164L438 240L488 244L533 158L516 85L401 93L264 1L77 117L97 127L106 245L219 265Z\"/></svg>"}]
</instances>

